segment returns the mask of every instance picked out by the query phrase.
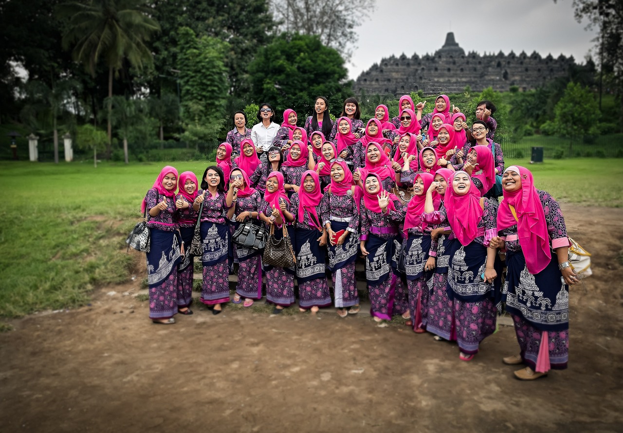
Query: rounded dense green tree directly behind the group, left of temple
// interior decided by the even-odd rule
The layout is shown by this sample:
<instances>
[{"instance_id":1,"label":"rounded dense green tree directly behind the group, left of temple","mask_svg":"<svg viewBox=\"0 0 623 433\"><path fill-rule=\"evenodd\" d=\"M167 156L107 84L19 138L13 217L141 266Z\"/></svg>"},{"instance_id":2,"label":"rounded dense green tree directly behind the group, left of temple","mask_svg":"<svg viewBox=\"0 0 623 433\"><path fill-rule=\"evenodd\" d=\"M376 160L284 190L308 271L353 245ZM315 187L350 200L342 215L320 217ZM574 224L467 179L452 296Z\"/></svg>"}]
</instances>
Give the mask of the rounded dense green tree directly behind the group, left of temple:
<instances>
[{"instance_id":1,"label":"rounded dense green tree directly behind the group, left of temple","mask_svg":"<svg viewBox=\"0 0 623 433\"><path fill-rule=\"evenodd\" d=\"M331 112L340 113L344 100L353 94L344 59L318 36L284 33L275 37L272 44L258 50L249 73L255 103L269 101L293 108L299 118L312 112L319 95L329 100Z\"/></svg>"}]
</instances>

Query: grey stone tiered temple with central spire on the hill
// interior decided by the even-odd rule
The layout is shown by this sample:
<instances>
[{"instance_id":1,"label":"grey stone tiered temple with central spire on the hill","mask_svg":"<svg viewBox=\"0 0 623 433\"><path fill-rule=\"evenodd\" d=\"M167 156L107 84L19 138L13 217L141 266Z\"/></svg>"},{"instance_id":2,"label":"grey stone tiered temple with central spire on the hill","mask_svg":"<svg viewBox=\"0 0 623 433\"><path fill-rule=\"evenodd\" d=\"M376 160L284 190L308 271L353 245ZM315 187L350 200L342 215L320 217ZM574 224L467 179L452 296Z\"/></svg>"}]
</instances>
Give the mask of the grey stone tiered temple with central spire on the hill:
<instances>
[{"instance_id":1,"label":"grey stone tiered temple with central spire on the hill","mask_svg":"<svg viewBox=\"0 0 623 433\"><path fill-rule=\"evenodd\" d=\"M355 92L361 90L373 93L404 93L422 90L425 94L459 93L466 86L480 92L487 87L500 92L511 86L520 90L540 87L548 80L568 74L569 67L575 64L573 56L563 54L554 59L551 54L541 57L538 52L528 55L515 54L477 54L462 49L449 32L445 44L435 54L420 57L417 54L407 57L392 55L374 64L359 75L353 85Z\"/></svg>"}]
</instances>

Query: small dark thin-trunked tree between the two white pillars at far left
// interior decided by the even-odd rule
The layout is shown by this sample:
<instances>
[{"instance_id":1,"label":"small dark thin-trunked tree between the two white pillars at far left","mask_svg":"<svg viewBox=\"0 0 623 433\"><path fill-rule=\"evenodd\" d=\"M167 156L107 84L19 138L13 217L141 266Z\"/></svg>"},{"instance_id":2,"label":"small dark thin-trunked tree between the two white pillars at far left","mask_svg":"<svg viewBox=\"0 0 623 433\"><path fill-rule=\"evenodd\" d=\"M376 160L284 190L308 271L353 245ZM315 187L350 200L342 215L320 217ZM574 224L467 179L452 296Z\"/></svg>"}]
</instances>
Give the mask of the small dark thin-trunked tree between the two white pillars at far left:
<instances>
[{"instance_id":1,"label":"small dark thin-trunked tree between the two white pillars at far left","mask_svg":"<svg viewBox=\"0 0 623 433\"><path fill-rule=\"evenodd\" d=\"M42 104L45 109L44 117L49 120L49 125L54 134L54 163L59 163L59 116L69 115L69 107L73 92L80 92L80 84L72 79L62 79L52 83L52 87L48 87L45 83L34 80L26 85L26 92L29 100L34 103ZM34 107L24 107L22 116L29 118L31 125L34 118L37 117L37 110ZM41 110L39 110L39 113Z\"/></svg>"}]
</instances>

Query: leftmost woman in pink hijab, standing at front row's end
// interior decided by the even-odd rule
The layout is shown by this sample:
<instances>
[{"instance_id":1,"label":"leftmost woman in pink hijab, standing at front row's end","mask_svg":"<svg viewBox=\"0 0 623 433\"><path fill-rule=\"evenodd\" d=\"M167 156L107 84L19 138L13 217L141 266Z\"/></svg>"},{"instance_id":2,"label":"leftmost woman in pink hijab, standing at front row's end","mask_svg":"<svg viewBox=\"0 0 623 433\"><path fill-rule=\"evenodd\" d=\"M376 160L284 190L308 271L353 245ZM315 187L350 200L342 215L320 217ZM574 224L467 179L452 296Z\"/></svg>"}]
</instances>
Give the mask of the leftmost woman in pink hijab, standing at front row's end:
<instances>
[{"instance_id":1,"label":"leftmost woman in pink hijab, standing at front row's end","mask_svg":"<svg viewBox=\"0 0 623 433\"><path fill-rule=\"evenodd\" d=\"M160 171L141 204L150 228L150 250L146 253L150 319L164 325L175 323L173 316L178 313L176 279L184 254L174 219L176 209L183 206L181 200L175 199L177 189L178 171L168 165Z\"/></svg>"}]
</instances>

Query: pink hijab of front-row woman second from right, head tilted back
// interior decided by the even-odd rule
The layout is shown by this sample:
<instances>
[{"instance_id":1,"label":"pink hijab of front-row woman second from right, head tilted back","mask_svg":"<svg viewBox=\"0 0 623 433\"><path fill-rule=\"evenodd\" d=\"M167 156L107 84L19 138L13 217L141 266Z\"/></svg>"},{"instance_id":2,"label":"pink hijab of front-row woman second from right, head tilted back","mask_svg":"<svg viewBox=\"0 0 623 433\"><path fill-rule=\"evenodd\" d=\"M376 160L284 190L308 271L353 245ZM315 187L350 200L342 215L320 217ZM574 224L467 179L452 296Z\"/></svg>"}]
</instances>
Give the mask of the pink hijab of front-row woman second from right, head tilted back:
<instances>
[{"instance_id":1,"label":"pink hijab of front-row woman second from right, head tilted back","mask_svg":"<svg viewBox=\"0 0 623 433\"><path fill-rule=\"evenodd\" d=\"M448 188L445 189L444 206L454 236L459 239L461 245L467 246L476 239L478 222L482 219L483 210L480 207L480 191L472 181L467 194L459 196L454 192L452 183L459 173L467 174L463 170L455 171Z\"/></svg>"}]
</instances>

